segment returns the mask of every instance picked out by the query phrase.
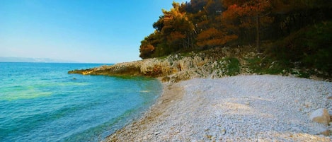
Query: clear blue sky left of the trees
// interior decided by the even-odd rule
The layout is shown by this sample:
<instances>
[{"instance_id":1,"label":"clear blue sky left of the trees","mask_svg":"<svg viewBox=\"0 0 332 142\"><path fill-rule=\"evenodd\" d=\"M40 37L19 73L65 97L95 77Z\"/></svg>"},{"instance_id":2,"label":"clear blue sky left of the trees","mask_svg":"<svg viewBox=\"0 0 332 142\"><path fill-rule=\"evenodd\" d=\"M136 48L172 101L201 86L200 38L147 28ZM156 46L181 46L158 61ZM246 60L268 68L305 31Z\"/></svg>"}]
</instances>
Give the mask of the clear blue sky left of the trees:
<instances>
[{"instance_id":1,"label":"clear blue sky left of the trees","mask_svg":"<svg viewBox=\"0 0 332 142\"><path fill-rule=\"evenodd\" d=\"M139 60L173 0L0 0L0 57L82 63ZM184 2L184 0L176 0Z\"/></svg>"}]
</instances>

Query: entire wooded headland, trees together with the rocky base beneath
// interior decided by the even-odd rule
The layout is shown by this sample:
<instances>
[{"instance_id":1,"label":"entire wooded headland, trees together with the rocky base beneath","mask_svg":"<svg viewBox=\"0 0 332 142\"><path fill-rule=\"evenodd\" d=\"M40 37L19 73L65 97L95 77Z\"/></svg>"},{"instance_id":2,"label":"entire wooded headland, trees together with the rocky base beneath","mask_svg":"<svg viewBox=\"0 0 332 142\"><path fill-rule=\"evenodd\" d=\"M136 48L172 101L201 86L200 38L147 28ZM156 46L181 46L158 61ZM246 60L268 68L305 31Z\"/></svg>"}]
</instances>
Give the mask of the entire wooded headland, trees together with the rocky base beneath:
<instances>
[{"instance_id":1,"label":"entire wooded headland, trees together with the rocky base beneath","mask_svg":"<svg viewBox=\"0 0 332 142\"><path fill-rule=\"evenodd\" d=\"M142 40L142 61L69 73L163 77L332 76L332 1L173 2Z\"/></svg>"}]
</instances>

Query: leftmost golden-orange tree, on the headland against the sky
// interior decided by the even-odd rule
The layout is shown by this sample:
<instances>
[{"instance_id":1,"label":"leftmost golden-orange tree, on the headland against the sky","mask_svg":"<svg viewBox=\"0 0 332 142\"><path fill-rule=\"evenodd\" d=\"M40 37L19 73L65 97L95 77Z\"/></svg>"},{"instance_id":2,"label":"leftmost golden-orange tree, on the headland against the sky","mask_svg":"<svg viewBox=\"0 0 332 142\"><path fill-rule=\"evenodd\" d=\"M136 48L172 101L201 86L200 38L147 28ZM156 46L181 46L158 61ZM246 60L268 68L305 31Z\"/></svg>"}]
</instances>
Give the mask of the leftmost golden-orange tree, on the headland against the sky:
<instances>
[{"instance_id":1,"label":"leftmost golden-orange tree, on the headland against the sky","mask_svg":"<svg viewBox=\"0 0 332 142\"><path fill-rule=\"evenodd\" d=\"M162 10L163 15L153 24L155 32L141 42L140 57L160 57L194 47L195 27L183 4L173 2L170 11Z\"/></svg>"}]
</instances>

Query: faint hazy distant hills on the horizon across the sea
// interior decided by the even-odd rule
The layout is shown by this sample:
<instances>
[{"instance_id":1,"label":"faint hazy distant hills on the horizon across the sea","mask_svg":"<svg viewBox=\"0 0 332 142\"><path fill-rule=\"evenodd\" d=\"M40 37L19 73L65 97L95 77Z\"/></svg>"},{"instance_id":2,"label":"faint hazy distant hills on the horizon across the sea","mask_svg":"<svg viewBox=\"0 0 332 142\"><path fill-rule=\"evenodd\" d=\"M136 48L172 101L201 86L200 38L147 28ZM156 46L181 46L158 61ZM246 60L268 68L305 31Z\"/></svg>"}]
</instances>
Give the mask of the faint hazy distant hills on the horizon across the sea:
<instances>
[{"instance_id":1,"label":"faint hazy distant hills on the horizon across the sea","mask_svg":"<svg viewBox=\"0 0 332 142\"><path fill-rule=\"evenodd\" d=\"M49 58L0 57L0 62L75 63L76 61L66 61L66 60L49 59Z\"/></svg>"}]
</instances>

